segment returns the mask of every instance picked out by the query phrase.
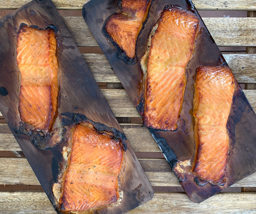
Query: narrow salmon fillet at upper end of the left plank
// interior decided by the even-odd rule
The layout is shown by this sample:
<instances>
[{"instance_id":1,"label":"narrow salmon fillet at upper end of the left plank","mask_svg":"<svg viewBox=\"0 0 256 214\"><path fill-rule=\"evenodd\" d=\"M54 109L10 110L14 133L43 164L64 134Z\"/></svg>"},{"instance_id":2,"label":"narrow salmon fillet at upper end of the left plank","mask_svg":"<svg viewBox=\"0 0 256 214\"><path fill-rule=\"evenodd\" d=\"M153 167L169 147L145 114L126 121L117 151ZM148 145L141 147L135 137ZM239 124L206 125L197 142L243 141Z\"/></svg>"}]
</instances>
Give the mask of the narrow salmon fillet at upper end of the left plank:
<instances>
[{"instance_id":1,"label":"narrow salmon fillet at upper end of the left plank","mask_svg":"<svg viewBox=\"0 0 256 214\"><path fill-rule=\"evenodd\" d=\"M21 73L20 119L47 133L57 111L57 41L53 29L23 25L17 34L17 63Z\"/></svg>"}]
</instances>

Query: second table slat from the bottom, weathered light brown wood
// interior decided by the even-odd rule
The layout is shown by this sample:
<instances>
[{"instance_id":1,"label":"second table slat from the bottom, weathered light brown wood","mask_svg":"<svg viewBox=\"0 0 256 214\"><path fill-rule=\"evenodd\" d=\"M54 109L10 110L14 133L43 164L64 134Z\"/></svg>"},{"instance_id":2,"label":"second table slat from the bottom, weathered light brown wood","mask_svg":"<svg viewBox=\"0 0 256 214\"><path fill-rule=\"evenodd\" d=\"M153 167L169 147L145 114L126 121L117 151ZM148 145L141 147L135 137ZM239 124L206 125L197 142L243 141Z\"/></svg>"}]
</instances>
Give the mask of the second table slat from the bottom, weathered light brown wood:
<instances>
[{"instance_id":1,"label":"second table slat from the bottom, weathered light brown wood","mask_svg":"<svg viewBox=\"0 0 256 214\"><path fill-rule=\"evenodd\" d=\"M1 160L0 185L39 185L38 179L25 158L1 158ZM139 162L151 185L180 186L165 159L139 159ZM256 187L256 172L232 187Z\"/></svg>"}]
</instances>

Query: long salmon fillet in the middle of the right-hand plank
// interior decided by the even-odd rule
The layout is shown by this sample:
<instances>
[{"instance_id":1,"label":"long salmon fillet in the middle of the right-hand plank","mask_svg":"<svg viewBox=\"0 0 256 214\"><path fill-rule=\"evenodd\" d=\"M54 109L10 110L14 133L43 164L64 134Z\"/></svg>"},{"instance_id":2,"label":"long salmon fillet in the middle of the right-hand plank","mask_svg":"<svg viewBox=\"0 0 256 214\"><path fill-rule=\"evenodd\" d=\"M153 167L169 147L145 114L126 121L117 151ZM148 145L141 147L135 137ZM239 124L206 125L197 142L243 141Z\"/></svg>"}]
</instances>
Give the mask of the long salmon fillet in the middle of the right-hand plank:
<instances>
[{"instance_id":1,"label":"long salmon fillet in the middle of the right-hand plank","mask_svg":"<svg viewBox=\"0 0 256 214\"><path fill-rule=\"evenodd\" d=\"M199 19L169 6L163 10L151 46L145 81L144 125L177 129L186 88L186 67L194 51Z\"/></svg>"}]
</instances>

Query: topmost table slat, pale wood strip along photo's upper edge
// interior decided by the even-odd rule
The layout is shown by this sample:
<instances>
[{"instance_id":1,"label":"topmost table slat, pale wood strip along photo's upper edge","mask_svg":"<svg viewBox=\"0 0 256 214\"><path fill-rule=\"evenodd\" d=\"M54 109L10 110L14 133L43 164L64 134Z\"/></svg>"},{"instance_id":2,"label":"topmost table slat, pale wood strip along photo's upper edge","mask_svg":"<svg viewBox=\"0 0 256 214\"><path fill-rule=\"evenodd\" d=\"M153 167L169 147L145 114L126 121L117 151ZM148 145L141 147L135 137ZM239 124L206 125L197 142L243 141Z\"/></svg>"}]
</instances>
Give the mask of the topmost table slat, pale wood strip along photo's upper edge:
<instances>
[{"instance_id":1,"label":"topmost table slat, pale wood strip along photo's upper edge","mask_svg":"<svg viewBox=\"0 0 256 214\"><path fill-rule=\"evenodd\" d=\"M58 9L77 10L82 9L83 5L90 0L53 0ZM0 9L17 9L23 4L27 4L30 0L2 0ZM233 11L256 11L256 2L254 0L194 0L197 10L233 10Z\"/></svg>"}]
</instances>

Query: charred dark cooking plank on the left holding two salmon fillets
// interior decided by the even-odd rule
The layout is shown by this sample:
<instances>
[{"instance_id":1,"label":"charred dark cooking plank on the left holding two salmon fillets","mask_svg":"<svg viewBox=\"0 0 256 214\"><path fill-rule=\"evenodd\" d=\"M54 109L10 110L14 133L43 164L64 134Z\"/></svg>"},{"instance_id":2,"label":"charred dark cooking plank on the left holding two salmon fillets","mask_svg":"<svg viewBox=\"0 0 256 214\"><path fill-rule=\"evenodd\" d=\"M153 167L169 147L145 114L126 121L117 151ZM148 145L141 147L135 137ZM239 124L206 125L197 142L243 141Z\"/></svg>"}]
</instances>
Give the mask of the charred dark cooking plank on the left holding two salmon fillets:
<instances>
[{"instance_id":1,"label":"charred dark cooking plank on the left holding two salmon fillets","mask_svg":"<svg viewBox=\"0 0 256 214\"><path fill-rule=\"evenodd\" d=\"M1 70L0 85L7 88L9 94L7 97L1 97L0 103L1 111L3 111L4 115L8 115L5 119L9 124L13 125L10 126L11 130L14 131L15 124L18 124L19 122L15 116L18 108L17 97L19 97L19 90L17 90L17 86L19 86L19 78L17 75L19 69L17 67L17 62L13 57L13 53L16 50L16 37L13 37L13 29L14 27L20 26L23 22L29 25L38 24L38 26L53 24L58 29L60 51L58 51L57 59L61 71L59 74L61 76L59 85L62 96L61 102L58 104L59 112L68 112L68 114L65 114L67 118L72 117L70 115L73 112L79 112L85 114L93 121L101 122L106 126L121 130L121 127L115 119L114 113L111 111L54 4L50 0L38 2L39 4L37 1L32 1L28 5L22 6L17 12L7 15L4 20L1 20L2 27L0 31L2 36L0 58L1 66L6 68ZM11 59L10 56L12 56ZM4 64L6 64L6 66ZM106 129L105 127L102 128L102 126L100 128L101 130ZM17 136L17 141L29 161L31 168L33 168L39 182L42 184L45 193L53 203L54 197L51 188L55 180L55 175L58 173L58 167L56 168L55 166L58 166L60 163L58 158L55 157L58 152L62 152L62 147L67 145L67 141L60 146L55 146L54 149L43 152L36 149L36 147L31 144L28 137L19 135ZM123 163L126 179L122 182L124 191L123 203L116 208L110 209L104 207L100 210L103 210L102 212L108 212L110 209L110 212L113 214L124 213L137 207L139 204L145 203L153 197L153 187L150 185L150 182L132 151L129 142L126 142L126 144L127 150L125 161ZM9 168L9 171L12 168L13 167ZM1 170L1 173L2 172L3 171ZM17 174L21 173L22 172L18 172ZM124 170L121 170L119 175L122 177L124 175ZM143 193L143 197L138 197L137 194L133 194L132 192L134 188L138 186L140 186L140 191ZM55 209L58 208L55 207Z\"/></svg>"}]
</instances>

